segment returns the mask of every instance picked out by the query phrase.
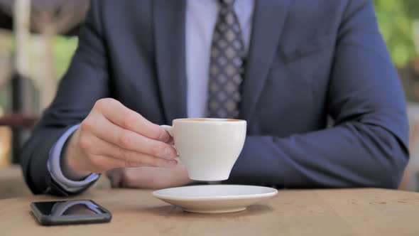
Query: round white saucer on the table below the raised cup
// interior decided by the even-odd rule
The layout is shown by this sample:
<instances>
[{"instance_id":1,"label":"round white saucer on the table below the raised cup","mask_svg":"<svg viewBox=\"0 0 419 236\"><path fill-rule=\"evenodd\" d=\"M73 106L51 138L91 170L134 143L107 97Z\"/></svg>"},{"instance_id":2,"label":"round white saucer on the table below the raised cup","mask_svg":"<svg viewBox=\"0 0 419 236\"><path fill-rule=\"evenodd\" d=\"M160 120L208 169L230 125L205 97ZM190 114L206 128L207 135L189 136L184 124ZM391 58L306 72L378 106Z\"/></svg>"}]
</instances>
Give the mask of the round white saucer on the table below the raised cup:
<instances>
[{"instance_id":1,"label":"round white saucer on the table below the raised cup","mask_svg":"<svg viewBox=\"0 0 419 236\"><path fill-rule=\"evenodd\" d=\"M209 185L165 188L152 194L191 213L233 213L277 193L261 186Z\"/></svg>"}]
</instances>

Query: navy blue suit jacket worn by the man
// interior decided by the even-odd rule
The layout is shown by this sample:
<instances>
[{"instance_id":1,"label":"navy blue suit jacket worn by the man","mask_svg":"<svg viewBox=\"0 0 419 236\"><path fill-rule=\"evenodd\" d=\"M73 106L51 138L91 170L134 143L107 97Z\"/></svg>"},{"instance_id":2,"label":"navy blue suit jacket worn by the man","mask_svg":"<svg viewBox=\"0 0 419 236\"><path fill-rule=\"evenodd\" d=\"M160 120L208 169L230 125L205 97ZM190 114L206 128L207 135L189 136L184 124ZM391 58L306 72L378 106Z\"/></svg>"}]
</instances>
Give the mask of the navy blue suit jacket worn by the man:
<instances>
[{"instance_id":1,"label":"navy blue suit jacket worn by the man","mask_svg":"<svg viewBox=\"0 0 419 236\"><path fill-rule=\"evenodd\" d=\"M185 0L92 1L70 69L25 146L28 186L67 194L50 178L48 153L94 102L113 97L170 124L187 115L186 80ZM226 182L398 186L406 107L371 1L256 1L242 97L248 136Z\"/></svg>"}]
</instances>

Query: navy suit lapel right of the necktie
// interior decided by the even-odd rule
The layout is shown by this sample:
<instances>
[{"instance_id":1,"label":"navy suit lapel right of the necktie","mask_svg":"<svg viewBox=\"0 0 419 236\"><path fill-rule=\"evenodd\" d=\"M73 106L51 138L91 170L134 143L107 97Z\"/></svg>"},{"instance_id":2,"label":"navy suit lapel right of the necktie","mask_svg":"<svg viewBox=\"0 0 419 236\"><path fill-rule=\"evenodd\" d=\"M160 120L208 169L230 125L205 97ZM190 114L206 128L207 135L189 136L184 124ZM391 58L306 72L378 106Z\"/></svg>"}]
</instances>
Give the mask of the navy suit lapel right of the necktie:
<instances>
[{"instance_id":1,"label":"navy suit lapel right of the necktie","mask_svg":"<svg viewBox=\"0 0 419 236\"><path fill-rule=\"evenodd\" d=\"M254 112L292 2L293 0L255 1L251 43L243 84L243 119L250 119Z\"/></svg>"}]
</instances>

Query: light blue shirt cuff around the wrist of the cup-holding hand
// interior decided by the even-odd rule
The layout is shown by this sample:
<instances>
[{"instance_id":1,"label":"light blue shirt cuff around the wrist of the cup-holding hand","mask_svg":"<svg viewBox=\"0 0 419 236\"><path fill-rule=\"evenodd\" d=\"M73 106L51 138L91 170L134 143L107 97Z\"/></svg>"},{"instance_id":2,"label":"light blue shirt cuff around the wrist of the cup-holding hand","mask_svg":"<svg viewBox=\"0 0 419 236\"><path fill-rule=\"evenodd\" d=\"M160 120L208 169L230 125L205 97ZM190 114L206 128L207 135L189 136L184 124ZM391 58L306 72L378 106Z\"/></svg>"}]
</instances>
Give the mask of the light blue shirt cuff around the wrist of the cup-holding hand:
<instances>
[{"instance_id":1,"label":"light blue shirt cuff around the wrist of the cup-holding hand","mask_svg":"<svg viewBox=\"0 0 419 236\"><path fill-rule=\"evenodd\" d=\"M60 136L60 139L54 144L53 148L50 150L50 156L48 158L47 167L48 171L50 171L51 178L55 182L57 182L65 191L68 192L77 192L80 191L85 186L89 185L93 181L96 181L99 178L99 174L92 173L87 176L82 181L72 181L62 174L61 166L60 166L60 159L62 156L62 147L64 146L65 142L67 141L68 137L75 132L76 129L80 127L80 124L76 124L75 126L67 129L67 131Z\"/></svg>"}]
</instances>

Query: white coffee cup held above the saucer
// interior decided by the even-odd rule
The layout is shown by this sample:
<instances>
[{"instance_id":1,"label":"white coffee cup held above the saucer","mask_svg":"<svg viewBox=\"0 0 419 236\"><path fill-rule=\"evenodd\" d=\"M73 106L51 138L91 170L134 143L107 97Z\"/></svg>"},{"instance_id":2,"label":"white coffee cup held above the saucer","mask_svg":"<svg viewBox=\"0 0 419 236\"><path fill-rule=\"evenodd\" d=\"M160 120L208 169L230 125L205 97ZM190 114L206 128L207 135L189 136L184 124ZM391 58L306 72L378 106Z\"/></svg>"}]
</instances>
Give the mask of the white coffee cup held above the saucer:
<instances>
[{"instance_id":1,"label":"white coffee cup held above the saucer","mask_svg":"<svg viewBox=\"0 0 419 236\"><path fill-rule=\"evenodd\" d=\"M172 127L162 127L195 181L228 179L246 139L246 121L240 119L174 119Z\"/></svg>"}]
</instances>

